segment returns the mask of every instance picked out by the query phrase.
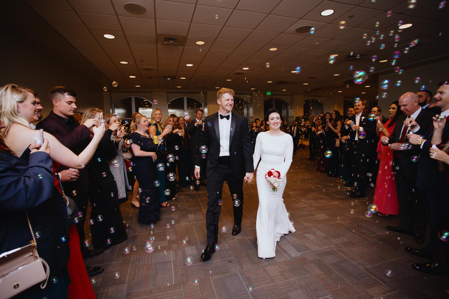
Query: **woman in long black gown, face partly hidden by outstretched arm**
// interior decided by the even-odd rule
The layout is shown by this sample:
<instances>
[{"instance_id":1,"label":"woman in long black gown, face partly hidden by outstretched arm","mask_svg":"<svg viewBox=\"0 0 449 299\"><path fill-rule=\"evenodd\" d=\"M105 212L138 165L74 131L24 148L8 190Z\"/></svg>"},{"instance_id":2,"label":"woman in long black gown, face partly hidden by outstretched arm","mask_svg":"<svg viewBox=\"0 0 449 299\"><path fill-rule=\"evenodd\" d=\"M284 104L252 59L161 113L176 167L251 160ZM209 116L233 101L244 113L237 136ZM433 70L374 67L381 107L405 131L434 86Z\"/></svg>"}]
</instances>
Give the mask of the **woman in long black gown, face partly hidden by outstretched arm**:
<instances>
[{"instance_id":1,"label":"woman in long black gown, face partly hidden by outstretched arm","mask_svg":"<svg viewBox=\"0 0 449 299\"><path fill-rule=\"evenodd\" d=\"M103 111L98 108L88 109L83 115L83 123L91 118L100 122L101 113ZM95 248L107 248L128 239L120 212L119 191L109 168L109 161L118 155L111 135L119 126L118 123L109 126L89 162L89 199L92 205L89 223Z\"/></svg>"}]
</instances>

